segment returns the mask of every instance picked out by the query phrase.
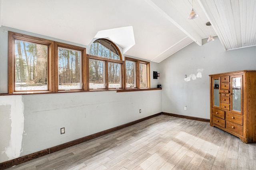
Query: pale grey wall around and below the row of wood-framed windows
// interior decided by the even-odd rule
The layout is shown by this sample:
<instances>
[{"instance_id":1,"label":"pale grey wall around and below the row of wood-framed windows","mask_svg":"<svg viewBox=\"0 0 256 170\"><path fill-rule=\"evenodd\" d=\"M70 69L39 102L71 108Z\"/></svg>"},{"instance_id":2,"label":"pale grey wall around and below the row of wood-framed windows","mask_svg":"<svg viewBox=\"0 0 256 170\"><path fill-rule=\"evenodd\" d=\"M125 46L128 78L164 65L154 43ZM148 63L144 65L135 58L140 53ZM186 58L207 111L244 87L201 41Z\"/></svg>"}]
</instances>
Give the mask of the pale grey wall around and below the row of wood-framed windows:
<instances>
[{"instance_id":1,"label":"pale grey wall around and below the row of wood-framed windows","mask_svg":"<svg viewBox=\"0 0 256 170\"><path fill-rule=\"evenodd\" d=\"M0 27L2 94L8 92L8 31L77 45ZM150 72L158 71L158 63L150 63L150 67ZM157 84L158 80L151 75L151 87L156 87ZM160 113L161 105L161 90L0 96L0 162ZM139 109L142 113L139 113ZM65 127L65 133L60 135L62 127Z\"/></svg>"}]
</instances>

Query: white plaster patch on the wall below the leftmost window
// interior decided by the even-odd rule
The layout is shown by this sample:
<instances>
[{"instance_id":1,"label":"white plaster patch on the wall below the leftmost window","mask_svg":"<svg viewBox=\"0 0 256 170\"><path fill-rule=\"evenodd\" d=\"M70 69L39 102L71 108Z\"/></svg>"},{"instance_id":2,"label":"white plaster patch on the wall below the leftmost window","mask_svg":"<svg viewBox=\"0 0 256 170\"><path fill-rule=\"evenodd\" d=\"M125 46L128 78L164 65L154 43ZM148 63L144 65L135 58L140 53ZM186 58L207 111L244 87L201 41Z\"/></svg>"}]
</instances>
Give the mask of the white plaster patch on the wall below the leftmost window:
<instances>
[{"instance_id":1,"label":"white plaster patch on the wall below the leftmost window","mask_svg":"<svg viewBox=\"0 0 256 170\"><path fill-rule=\"evenodd\" d=\"M0 123L4 121L11 121L10 127L1 132L0 138L9 138L9 143L5 146L5 150L1 150L2 154L5 153L8 160L18 158L22 150L22 135L24 131L24 104L22 102L22 96L0 96L0 107L7 113L4 119L0 120ZM6 107L10 108L6 110ZM9 117L6 114L9 113ZM8 120L9 119L9 120ZM1 141L2 142L2 141Z\"/></svg>"}]
</instances>

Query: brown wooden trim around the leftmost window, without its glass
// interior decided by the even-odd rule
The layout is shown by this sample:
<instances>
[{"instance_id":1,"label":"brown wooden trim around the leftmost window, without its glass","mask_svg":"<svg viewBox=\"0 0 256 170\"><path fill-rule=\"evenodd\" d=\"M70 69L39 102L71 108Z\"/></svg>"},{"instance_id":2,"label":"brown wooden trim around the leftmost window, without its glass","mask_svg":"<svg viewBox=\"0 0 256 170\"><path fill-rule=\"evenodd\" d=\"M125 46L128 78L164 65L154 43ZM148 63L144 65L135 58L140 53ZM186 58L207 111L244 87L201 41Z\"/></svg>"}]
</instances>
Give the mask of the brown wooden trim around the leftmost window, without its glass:
<instances>
[{"instance_id":1,"label":"brown wooden trim around the leftmost window, without its glass","mask_svg":"<svg viewBox=\"0 0 256 170\"><path fill-rule=\"evenodd\" d=\"M21 92L15 92L14 84L15 84L15 40L20 41L27 41L30 43L36 43L41 45L47 45L48 46L48 58L47 58L47 67L48 67L48 84L47 88L48 90L28 90L28 91L21 91ZM54 41L48 40L48 39L42 39L38 37L33 37L30 35L24 35L21 33L15 33L12 31L9 31L8 33L8 93L12 94L23 94L23 93L29 93L29 92L52 92L54 91Z\"/></svg>"}]
</instances>

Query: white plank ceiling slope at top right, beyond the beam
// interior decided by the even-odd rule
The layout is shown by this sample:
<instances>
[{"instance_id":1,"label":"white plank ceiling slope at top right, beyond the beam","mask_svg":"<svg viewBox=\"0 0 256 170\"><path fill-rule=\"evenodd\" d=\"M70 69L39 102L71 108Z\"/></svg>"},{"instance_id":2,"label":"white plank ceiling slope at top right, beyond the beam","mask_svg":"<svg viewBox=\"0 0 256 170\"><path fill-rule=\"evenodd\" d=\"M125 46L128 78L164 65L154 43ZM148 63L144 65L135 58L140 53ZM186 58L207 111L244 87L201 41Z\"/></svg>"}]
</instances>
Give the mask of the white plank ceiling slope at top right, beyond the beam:
<instances>
[{"instance_id":1,"label":"white plank ceiling slope at top right, beyond the beam","mask_svg":"<svg viewBox=\"0 0 256 170\"><path fill-rule=\"evenodd\" d=\"M226 50L256 45L255 0L199 0Z\"/></svg>"}]
</instances>

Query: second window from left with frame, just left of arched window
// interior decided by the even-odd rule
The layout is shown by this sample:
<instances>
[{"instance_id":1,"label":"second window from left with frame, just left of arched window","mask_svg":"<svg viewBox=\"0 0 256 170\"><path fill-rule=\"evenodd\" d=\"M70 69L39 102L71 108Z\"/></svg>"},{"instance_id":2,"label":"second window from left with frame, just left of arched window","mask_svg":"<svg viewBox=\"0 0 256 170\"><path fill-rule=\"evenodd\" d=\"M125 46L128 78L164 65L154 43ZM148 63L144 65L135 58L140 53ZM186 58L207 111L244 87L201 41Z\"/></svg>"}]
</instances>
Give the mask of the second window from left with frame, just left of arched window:
<instances>
[{"instance_id":1,"label":"second window from left with frame, just left of arched window","mask_svg":"<svg viewBox=\"0 0 256 170\"><path fill-rule=\"evenodd\" d=\"M55 89L58 91L84 90L85 48L55 43ZM83 86L84 85L84 86Z\"/></svg>"}]
</instances>

